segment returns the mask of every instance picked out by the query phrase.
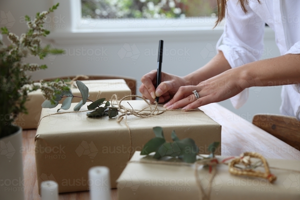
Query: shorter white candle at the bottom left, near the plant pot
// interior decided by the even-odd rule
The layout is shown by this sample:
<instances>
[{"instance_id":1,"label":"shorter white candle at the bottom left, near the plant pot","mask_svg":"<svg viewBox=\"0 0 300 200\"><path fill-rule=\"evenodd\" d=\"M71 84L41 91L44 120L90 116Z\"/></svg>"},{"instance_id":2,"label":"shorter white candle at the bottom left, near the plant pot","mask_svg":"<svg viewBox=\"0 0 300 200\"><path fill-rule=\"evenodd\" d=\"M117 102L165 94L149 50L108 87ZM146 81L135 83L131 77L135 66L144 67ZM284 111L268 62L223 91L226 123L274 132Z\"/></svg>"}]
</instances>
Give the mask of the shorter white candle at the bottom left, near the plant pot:
<instances>
[{"instance_id":1,"label":"shorter white candle at the bottom left, near the plant pot","mask_svg":"<svg viewBox=\"0 0 300 200\"><path fill-rule=\"evenodd\" d=\"M58 184L55 181L41 183L41 200L58 200Z\"/></svg>"}]
</instances>

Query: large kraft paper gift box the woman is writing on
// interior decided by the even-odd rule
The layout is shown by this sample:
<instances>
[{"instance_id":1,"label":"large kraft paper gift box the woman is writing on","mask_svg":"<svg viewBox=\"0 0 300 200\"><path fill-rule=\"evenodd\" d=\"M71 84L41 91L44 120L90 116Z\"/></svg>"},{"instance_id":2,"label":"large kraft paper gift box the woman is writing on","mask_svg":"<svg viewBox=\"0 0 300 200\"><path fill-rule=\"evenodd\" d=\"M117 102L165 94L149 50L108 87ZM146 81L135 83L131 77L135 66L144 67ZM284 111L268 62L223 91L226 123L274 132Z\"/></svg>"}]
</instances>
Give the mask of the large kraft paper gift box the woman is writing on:
<instances>
[{"instance_id":1,"label":"large kraft paper gift box the woman is writing on","mask_svg":"<svg viewBox=\"0 0 300 200\"><path fill-rule=\"evenodd\" d=\"M87 104L80 110L87 110ZM143 100L128 100L121 104L134 109L148 106ZM69 110L62 112L73 111L75 105L72 103ZM41 118L56 113L57 108L43 109ZM159 106L159 109L164 107ZM155 126L163 128L168 141L171 141L172 130L179 138L193 138L202 153L208 153L204 150L211 142L221 142L221 126L200 110L167 111L151 118L128 115L127 123L131 130L133 152L141 151L143 145L155 137ZM115 118L106 116L88 118L86 112L44 117L35 136L38 185L49 178L58 183L60 193L88 190L88 169L107 166L111 187L116 188L116 180L128 162L129 147L125 119L118 123ZM221 150L218 149L218 152Z\"/></svg>"}]
</instances>

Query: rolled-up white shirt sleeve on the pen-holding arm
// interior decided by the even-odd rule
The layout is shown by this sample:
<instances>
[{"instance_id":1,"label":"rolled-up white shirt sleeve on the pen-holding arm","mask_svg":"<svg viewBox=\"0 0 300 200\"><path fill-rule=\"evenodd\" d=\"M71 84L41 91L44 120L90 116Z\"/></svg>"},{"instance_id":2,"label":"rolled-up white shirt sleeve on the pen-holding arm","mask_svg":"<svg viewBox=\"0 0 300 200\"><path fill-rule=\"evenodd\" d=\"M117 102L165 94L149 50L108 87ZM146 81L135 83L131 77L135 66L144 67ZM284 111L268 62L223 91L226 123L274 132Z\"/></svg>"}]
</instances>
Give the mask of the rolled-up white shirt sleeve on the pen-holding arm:
<instances>
[{"instance_id":1,"label":"rolled-up white shirt sleeve on the pen-holding arm","mask_svg":"<svg viewBox=\"0 0 300 200\"><path fill-rule=\"evenodd\" d=\"M236 0L227 2L226 24L217 44L231 68L257 61L264 53L263 36L265 22L249 6L245 14ZM248 99L248 90L232 97L232 105L238 109Z\"/></svg>"}]
</instances>

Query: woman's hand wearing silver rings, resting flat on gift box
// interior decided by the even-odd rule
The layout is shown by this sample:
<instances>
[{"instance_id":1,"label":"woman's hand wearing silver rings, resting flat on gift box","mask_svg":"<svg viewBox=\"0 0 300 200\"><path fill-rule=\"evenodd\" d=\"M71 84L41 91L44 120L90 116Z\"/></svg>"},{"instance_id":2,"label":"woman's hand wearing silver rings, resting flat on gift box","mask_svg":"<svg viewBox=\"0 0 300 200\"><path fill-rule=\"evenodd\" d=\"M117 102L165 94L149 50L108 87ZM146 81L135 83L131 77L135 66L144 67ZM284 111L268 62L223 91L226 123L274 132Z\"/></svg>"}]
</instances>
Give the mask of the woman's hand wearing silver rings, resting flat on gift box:
<instances>
[{"instance_id":1,"label":"woman's hand wearing silver rings, resting flat on gift box","mask_svg":"<svg viewBox=\"0 0 300 200\"><path fill-rule=\"evenodd\" d=\"M248 86L241 77L240 70L234 68L202 81L196 86L182 86L164 107L167 109L195 109L209 103L229 99ZM193 94L194 90L199 94L197 100Z\"/></svg>"}]
</instances>

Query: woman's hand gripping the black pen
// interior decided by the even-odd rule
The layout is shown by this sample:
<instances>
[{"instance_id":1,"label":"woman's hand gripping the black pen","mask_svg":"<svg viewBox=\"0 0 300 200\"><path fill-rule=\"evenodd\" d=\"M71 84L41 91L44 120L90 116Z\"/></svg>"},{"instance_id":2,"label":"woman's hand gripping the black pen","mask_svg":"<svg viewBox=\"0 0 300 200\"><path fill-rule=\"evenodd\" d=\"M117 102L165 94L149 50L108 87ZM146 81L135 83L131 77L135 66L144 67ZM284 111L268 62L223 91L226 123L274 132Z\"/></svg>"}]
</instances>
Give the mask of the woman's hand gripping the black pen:
<instances>
[{"instance_id":1,"label":"woman's hand gripping the black pen","mask_svg":"<svg viewBox=\"0 0 300 200\"><path fill-rule=\"evenodd\" d=\"M159 97L158 103L163 103L173 97L181 86L189 85L189 82L180 76L161 72L161 84L155 90L157 70L152 70L141 78L140 92L151 102Z\"/></svg>"}]
</instances>

